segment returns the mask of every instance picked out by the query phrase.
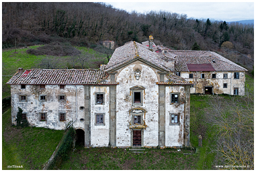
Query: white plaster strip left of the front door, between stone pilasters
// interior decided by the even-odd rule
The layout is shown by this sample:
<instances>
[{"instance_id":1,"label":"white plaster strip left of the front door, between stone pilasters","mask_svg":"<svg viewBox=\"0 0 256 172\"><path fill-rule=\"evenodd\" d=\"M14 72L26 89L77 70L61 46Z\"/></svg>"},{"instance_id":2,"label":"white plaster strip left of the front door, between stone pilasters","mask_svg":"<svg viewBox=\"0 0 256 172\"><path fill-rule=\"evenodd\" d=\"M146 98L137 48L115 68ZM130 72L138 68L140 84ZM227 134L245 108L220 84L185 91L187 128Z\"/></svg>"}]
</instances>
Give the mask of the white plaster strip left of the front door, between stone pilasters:
<instances>
[{"instance_id":1,"label":"white plaster strip left of the front door, between stone pilasters","mask_svg":"<svg viewBox=\"0 0 256 172\"><path fill-rule=\"evenodd\" d=\"M104 104L95 105L95 93L104 94ZM109 136L109 102L110 102L110 87L94 87L91 86L91 146L108 146L110 142ZM105 114L105 125L95 125L95 114Z\"/></svg>"}]
</instances>

